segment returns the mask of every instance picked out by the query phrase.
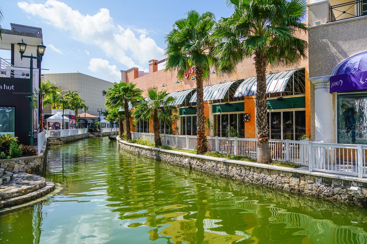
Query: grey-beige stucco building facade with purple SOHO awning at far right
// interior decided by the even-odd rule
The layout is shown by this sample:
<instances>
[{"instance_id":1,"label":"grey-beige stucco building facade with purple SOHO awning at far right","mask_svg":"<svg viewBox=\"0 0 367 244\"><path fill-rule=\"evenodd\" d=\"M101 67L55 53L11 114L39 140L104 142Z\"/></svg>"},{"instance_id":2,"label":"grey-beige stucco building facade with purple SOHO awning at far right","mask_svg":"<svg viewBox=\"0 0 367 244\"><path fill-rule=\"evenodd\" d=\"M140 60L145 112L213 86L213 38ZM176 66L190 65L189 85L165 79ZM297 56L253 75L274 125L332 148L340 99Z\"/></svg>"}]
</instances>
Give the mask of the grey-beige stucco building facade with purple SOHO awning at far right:
<instances>
[{"instance_id":1,"label":"grey-beige stucco building facade with purple SOHO awning at far right","mask_svg":"<svg viewBox=\"0 0 367 244\"><path fill-rule=\"evenodd\" d=\"M367 3L313 0L308 10L315 140L367 144Z\"/></svg>"}]
</instances>

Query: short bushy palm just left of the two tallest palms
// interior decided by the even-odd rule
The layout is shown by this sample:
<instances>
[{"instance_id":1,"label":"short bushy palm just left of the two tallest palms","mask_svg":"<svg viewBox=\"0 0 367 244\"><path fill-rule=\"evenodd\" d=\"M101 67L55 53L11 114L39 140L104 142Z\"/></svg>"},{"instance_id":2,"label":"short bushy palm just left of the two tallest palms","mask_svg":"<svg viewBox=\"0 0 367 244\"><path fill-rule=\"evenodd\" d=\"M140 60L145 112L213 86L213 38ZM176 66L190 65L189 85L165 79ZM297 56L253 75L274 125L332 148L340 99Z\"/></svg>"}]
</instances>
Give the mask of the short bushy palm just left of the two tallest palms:
<instances>
[{"instance_id":1,"label":"short bushy palm just left of the two tallest palms","mask_svg":"<svg viewBox=\"0 0 367 244\"><path fill-rule=\"evenodd\" d=\"M167 117L171 117L172 112L176 112L177 108L171 106L175 99L168 96L167 91L155 91L152 87L147 89L148 98L138 97L139 102L135 103L135 112L133 123L139 120L152 120L154 131L154 143L156 147L162 146L159 135L159 121L167 121Z\"/></svg>"}]
</instances>

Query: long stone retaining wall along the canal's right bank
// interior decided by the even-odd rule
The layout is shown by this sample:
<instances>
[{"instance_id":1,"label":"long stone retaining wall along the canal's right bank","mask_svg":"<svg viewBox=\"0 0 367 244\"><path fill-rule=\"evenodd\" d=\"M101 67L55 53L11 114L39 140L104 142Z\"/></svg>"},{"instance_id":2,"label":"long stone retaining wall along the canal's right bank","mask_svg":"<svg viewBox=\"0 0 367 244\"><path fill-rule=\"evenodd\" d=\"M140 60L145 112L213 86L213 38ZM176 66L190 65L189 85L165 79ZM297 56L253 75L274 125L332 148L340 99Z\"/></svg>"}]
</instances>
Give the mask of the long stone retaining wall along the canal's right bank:
<instances>
[{"instance_id":1,"label":"long stone retaining wall along the canal's right bank","mask_svg":"<svg viewBox=\"0 0 367 244\"><path fill-rule=\"evenodd\" d=\"M309 172L308 169L302 168L294 169L183 153L129 143L120 138L117 138L117 147L142 157L181 165L190 169L279 188L284 191L367 206L367 179ZM358 190L350 190L351 185L357 186Z\"/></svg>"}]
</instances>

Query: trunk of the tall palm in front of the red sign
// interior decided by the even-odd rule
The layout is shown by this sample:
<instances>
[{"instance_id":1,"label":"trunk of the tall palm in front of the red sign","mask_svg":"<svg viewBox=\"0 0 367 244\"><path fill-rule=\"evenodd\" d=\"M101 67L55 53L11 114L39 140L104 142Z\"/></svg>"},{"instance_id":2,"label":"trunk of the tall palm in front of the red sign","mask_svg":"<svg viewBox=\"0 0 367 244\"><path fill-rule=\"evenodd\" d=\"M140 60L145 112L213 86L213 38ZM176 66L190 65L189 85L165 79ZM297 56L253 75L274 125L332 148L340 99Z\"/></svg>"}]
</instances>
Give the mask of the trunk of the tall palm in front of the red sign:
<instances>
[{"instance_id":1,"label":"trunk of the tall palm in front of the red sign","mask_svg":"<svg viewBox=\"0 0 367 244\"><path fill-rule=\"evenodd\" d=\"M203 68L195 67L196 74L196 114L197 114L197 154L204 154L208 151L205 137L205 116L204 116L204 88L203 88Z\"/></svg>"}]
</instances>

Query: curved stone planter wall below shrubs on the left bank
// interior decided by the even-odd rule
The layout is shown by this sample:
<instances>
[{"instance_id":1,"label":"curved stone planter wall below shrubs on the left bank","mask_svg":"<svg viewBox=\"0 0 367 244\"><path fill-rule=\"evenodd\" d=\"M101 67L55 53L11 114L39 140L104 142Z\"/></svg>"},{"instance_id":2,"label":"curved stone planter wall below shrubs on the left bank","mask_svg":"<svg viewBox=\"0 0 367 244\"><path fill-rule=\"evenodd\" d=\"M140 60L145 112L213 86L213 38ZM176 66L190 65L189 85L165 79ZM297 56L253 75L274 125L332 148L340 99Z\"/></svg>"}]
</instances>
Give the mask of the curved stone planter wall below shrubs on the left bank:
<instances>
[{"instance_id":1,"label":"curved stone planter wall below shrubs on the left bank","mask_svg":"<svg viewBox=\"0 0 367 244\"><path fill-rule=\"evenodd\" d=\"M0 159L0 168L7 172L19 173L26 172L28 174L38 174L44 176L47 164L47 139L45 139L41 153L31 157Z\"/></svg>"}]
</instances>

